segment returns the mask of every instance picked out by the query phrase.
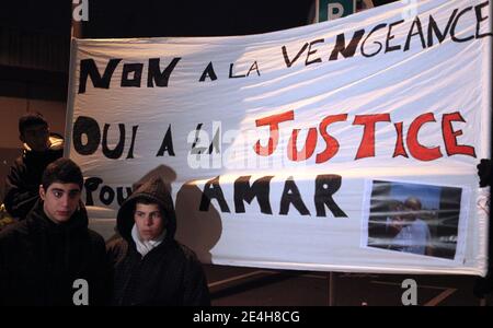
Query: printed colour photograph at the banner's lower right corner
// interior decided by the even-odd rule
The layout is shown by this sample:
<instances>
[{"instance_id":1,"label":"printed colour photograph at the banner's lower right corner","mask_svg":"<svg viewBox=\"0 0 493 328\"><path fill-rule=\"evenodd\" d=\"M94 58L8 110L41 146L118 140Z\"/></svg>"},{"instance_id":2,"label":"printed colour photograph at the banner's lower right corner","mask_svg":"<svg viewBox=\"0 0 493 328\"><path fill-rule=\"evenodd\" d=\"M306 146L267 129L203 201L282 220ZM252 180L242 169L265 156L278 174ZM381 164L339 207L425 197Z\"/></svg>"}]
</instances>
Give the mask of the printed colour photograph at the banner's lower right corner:
<instances>
[{"instance_id":1,"label":"printed colour photograph at the banner's lower right corner","mask_svg":"<svg viewBox=\"0 0 493 328\"><path fill-rule=\"evenodd\" d=\"M462 188L372 180L367 191L370 195L365 246L456 258L461 234Z\"/></svg>"}]
</instances>

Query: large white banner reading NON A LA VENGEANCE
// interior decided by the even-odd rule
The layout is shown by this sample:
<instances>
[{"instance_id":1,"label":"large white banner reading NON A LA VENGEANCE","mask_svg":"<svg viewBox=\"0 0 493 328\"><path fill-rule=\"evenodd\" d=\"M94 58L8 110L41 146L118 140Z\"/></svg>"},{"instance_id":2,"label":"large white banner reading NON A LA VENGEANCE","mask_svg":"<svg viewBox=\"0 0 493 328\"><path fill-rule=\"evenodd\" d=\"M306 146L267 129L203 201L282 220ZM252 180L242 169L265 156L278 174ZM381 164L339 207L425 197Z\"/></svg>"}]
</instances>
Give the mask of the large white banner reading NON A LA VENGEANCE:
<instances>
[{"instance_id":1,"label":"large white banner reading NON A LA VENGEANCE","mask_svg":"<svg viewBox=\"0 0 493 328\"><path fill-rule=\"evenodd\" d=\"M160 175L206 262L484 274L492 1L411 2L261 35L74 39L66 151L94 226Z\"/></svg>"}]
</instances>

